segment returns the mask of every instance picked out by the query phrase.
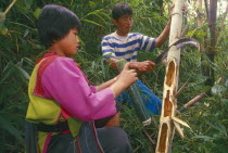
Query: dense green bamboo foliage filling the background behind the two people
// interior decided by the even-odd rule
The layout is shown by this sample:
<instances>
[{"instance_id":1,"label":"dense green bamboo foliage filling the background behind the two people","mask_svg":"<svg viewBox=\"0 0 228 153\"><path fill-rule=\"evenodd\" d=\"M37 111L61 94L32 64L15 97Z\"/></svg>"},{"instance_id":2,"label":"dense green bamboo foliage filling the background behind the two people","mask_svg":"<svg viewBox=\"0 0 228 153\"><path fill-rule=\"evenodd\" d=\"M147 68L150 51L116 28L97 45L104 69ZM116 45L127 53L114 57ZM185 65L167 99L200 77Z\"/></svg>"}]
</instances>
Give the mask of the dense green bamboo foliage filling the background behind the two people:
<instances>
[{"instance_id":1,"label":"dense green bamboo foliage filling the background behind the two people","mask_svg":"<svg viewBox=\"0 0 228 153\"><path fill-rule=\"evenodd\" d=\"M188 0L188 11L183 17L183 27L188 25L186 36L197 39L203 48L185 48L181 51L179 87L187 80L178 106L200 93L205 97L194 105L178 113L177 116L190 125L182 127L186 138L175 133L174 153L227 153L228 152L228 5L226 0ZM216 1L217 17L216 40L212 60L206 50L211 48L208 3ZM8 11L9 5L15 2ZM36 59L46 50L38 40L36 21L41 8L48 3L61 4L77 14L83 22L80 31L81 49L74 56L92 85L99 85L113 77L114 73L103 65L101 39L114 31L111 10L117 2L126 2L134 10L132 31L157 37L168 21L169 0L0 0L0 152L23 153L24 119L28 104L27 84ZM204 5L205 3L205 5ZM5 12L7 11L7 12ZM7 14L5 14L7 13ZM201 15L201 25L197 23ZM140 52L139 61L153 61L167 42L153 53ZM205 73L205 69L210 69ZM156 65L142 80L161 99L165 66ZM208 78L213 78L208 84ZM152 124L142 127L135 110L127 105L122 113L122 127L129 135L135 153L153 153L157 140L160 116L152 116Z\"/></svg>"}]
</instances>

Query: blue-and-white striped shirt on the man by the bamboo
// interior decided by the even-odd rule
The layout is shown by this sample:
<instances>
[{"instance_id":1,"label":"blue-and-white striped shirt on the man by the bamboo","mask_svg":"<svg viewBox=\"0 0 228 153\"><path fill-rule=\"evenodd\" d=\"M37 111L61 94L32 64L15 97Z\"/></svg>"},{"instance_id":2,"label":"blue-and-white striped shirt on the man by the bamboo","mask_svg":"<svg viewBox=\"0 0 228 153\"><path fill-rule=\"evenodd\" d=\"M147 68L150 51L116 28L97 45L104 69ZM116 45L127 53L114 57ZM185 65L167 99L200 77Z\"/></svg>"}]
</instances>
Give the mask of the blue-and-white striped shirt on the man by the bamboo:
<instances>
[{"instance_id":1,"label":"blue-and-white striped shirt on the man by the bamboo","mask_svg":"<svg viewBox=\"0 0 228 153\"><path fill-rule=\"evenodd\" d=\"M138 51L153 51L156 39L143 36L139 33L129 33L127 36L118 36L112 33L102 38L101 47L103 59L126 59L128 62L137 61Z\"/></svg>"}]
</instances>

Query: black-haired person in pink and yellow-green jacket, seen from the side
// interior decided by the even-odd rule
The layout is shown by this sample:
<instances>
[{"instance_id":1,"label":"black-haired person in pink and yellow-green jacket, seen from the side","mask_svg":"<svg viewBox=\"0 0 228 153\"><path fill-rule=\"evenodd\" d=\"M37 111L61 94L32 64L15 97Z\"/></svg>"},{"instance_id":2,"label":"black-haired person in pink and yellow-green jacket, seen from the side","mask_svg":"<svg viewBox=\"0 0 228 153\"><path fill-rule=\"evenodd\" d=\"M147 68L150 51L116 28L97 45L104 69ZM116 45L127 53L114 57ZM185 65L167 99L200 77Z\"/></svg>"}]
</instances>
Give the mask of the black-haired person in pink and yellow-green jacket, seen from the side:
<instances>
[{"instance_id":1,"label":"black-haired person in pink and yellow-green jacket, seen from the side","mask_svg":"<svg viewBox=\"0 0 228 153\"><path fill-rule=\"evenodd\" d=\"M112 119L119 112L115 98L137 80L136 72L126 64L114 79L89 86L77 63L67 58L79 49L80 21L64 7L43 7L37 29L49 51L37 61L28 86L26 120L37 128L38 152L87 153L93 149L93 153L131 153L123 129L116 126L94 129L91 120Z\"/></svg>"}]
</instances>

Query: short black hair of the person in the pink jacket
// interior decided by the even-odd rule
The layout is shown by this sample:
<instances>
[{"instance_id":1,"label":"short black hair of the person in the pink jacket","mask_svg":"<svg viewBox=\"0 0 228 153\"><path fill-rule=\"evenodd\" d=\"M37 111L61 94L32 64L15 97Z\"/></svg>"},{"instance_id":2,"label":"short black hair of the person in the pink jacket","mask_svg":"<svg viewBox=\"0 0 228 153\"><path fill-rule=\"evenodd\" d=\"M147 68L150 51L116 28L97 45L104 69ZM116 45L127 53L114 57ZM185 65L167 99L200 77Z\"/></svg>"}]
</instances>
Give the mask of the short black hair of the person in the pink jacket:
<instances>
[{"instance_id":1,"label":"short black hair of the person in the pink jacket","mask_svg":"<svg viewBox=\"0 0 228 153\"><path fill-rule=\"evenodd\" d=\"M80 20L75 13L61 5L45 5L37 21L39 38L46 48L64 38L74 28L80 30Z\"/></svg>"}]
</instances>

